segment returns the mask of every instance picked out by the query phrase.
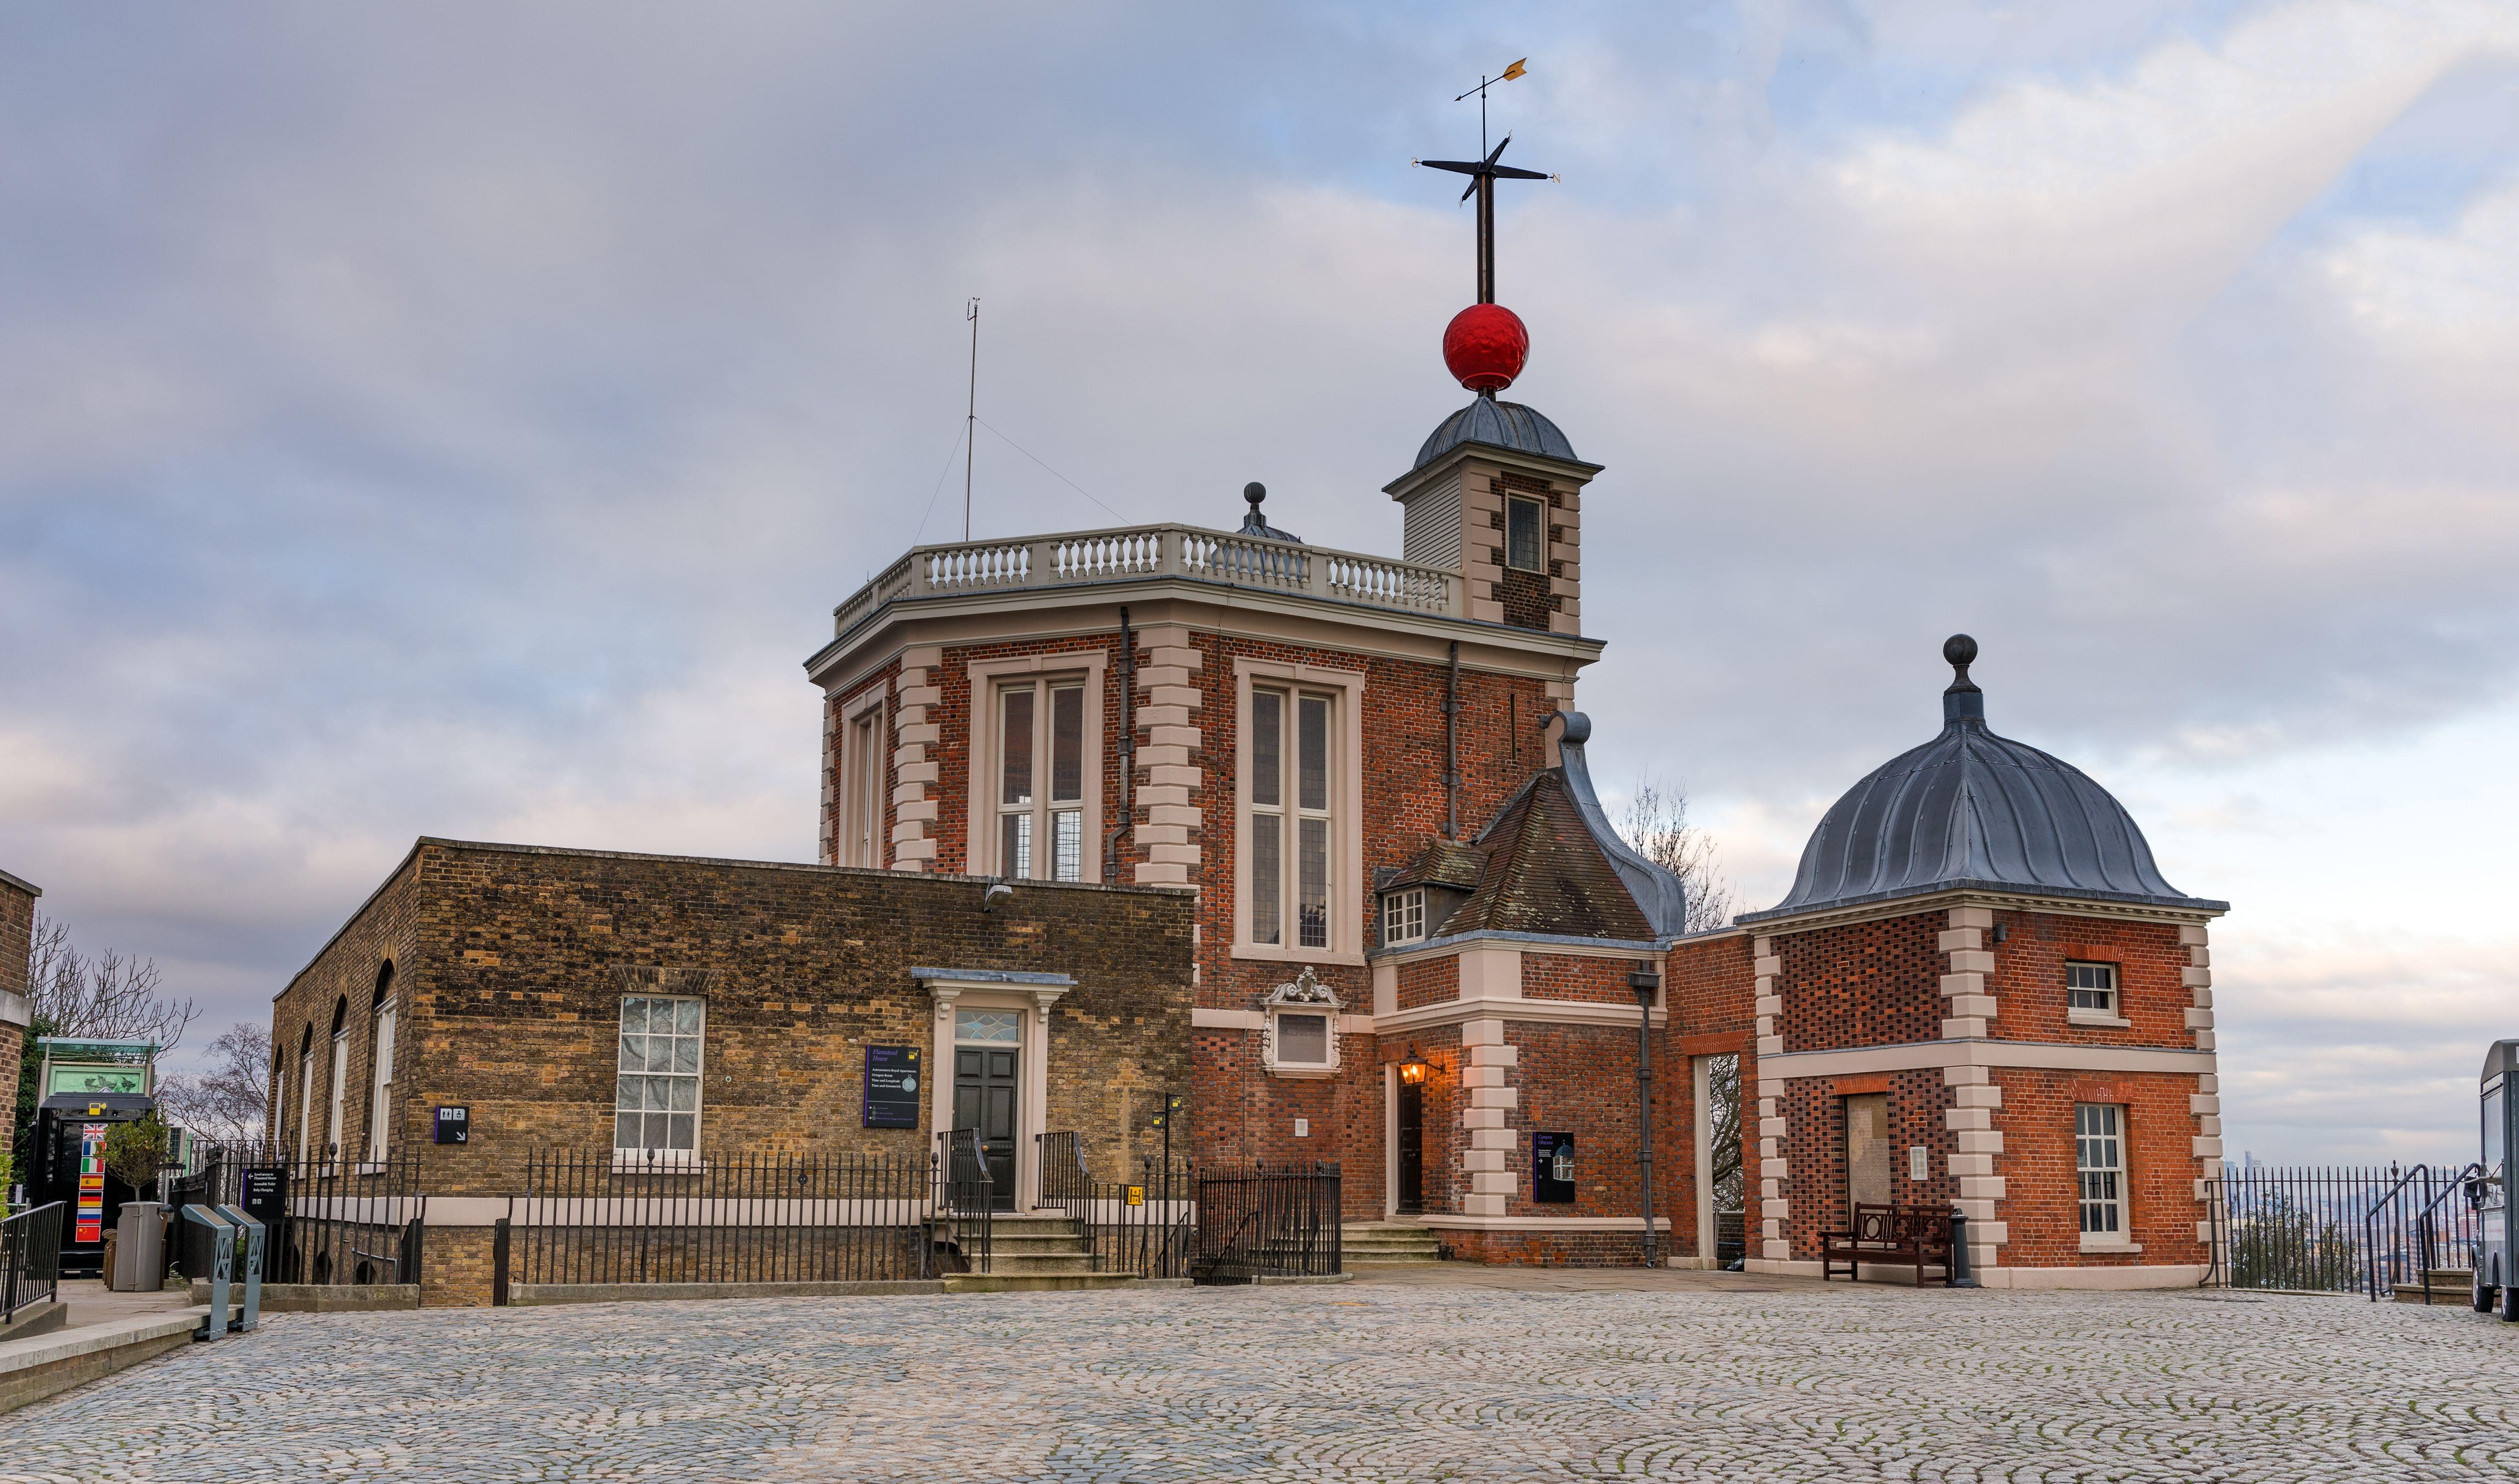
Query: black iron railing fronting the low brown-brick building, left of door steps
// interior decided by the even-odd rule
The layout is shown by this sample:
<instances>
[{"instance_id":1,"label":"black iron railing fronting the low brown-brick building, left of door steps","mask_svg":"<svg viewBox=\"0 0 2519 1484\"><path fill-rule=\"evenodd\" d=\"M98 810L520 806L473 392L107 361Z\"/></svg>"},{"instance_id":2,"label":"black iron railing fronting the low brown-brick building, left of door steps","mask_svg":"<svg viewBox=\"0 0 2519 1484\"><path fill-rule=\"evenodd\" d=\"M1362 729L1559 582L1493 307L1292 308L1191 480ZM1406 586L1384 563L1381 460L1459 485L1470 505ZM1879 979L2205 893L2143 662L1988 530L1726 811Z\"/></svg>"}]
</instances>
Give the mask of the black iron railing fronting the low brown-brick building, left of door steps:
<instances>
[{"instance_id":1,"label":"black iron railing fronting the low brown-brick building, left of door steps","mask_svg":"<svg viewBox=\"0 0 2519 1484\"><path fill-rule=\"evenodd\" d=\"M509 1197L519 1282L867 1282L932 1277L917 1159L705 1154L622 1164L534 1149Z\"/></svg>"}]
</instances>

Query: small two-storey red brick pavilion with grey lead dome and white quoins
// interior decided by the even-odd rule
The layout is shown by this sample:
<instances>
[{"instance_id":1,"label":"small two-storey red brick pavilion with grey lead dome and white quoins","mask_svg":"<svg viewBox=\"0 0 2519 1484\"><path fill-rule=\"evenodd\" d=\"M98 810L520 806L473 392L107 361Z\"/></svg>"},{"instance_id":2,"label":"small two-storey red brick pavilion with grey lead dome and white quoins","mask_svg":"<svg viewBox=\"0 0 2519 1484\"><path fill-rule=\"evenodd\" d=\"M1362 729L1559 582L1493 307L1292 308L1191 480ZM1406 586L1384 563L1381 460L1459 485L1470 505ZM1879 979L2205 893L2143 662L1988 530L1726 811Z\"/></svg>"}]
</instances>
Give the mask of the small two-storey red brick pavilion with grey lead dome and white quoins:
<instances>
[{"instance_id":1,"label":"small two-storey red brick pavilion with grey lead dome and white quoins","mask_svg":"<svg viewBox=\"0 0 2519 1484\"><path fill-rule=\"evenodd\" d=\"M1849 789L1794 892L1738 920L1748 1267L1816 1272L1854 1202L1955 1202L1987 1285L2194 1282L2222 1164L2207 922L2227 902L2171 887L2083 771L1985 726L1975 640L1942 653L1942 733Z\"/></svg>"}]
</instances>

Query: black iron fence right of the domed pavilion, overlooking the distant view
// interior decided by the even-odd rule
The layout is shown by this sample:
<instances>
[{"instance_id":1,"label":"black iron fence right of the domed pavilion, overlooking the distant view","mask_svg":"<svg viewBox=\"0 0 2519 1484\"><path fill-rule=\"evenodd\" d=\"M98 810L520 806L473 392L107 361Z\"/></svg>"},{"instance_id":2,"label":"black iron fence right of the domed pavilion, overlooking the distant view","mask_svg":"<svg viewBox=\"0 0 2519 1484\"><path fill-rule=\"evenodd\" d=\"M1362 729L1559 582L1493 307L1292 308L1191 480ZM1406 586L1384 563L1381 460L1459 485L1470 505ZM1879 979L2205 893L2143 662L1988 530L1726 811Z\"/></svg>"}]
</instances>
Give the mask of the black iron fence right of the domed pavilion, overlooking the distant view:
<instances>
[{"instance_id":1,"label":"black iron fence right of the domed pavilion, overlooking the distant view","mask_svg":"<svg viewBox=\"0 0 2519 1484\"><path fill-rule=\"evenodd\" d=\"M2365 1293L2474 1265L2479 1219L2469 1169L2222 1167L2207 1182L2214 1287Z\"/></svg>"}]
</instances>

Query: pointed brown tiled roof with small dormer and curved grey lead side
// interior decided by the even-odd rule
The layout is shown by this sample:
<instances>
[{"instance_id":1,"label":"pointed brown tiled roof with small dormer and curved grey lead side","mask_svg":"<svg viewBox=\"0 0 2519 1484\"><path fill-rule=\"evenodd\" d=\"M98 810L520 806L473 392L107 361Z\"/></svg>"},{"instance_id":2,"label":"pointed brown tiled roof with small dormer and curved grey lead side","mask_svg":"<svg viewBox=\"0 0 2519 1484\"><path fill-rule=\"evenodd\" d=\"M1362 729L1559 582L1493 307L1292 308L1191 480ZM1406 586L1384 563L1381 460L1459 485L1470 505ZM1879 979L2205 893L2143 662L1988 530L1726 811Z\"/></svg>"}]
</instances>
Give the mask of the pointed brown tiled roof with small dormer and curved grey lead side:
<instances>
[{"instance_id":1,"label":"pointed brown tiled roof with small dormer and curved grey lead side","mask_svg":"<svg viewBox=\"0 0 2519 1484\"><path fill-rule=\"evenodd\" d=\"M1532 773L1469 844L1433 842L1398 884L1466 884L1476 889L1446 922L1456 932L1544 932L1557 937L1675 937L1685 917L1680 879L1635 854L1610 829L1592 791L1584 741L1592 721L1567 713L1562 766ZM1441 877L1431 872L1443 872Z\"/></svg>"}]
</instances>

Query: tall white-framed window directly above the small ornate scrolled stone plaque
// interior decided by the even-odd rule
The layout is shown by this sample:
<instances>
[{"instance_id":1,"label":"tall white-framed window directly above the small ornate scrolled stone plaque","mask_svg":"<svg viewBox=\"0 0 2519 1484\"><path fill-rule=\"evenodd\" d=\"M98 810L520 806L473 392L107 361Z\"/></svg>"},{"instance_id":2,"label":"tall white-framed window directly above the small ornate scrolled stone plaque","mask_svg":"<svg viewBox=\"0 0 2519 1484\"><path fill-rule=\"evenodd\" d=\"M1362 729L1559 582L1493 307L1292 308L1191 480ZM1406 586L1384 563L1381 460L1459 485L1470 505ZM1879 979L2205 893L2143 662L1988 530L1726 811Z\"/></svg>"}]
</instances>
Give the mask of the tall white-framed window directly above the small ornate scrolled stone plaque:
<instances>
[{"instance_id":1,"label":"tall white-framed window directly above the small ornate scrolled stone plaque","mask_svg":"<svg viewBox=\"0 0 2519 1484\"><path fill-rule=\"evenodd\" d=\"M1252 690L1252 942L1330 947L1330 708L1315 690Z\"/></svg>"}]
</instances>

